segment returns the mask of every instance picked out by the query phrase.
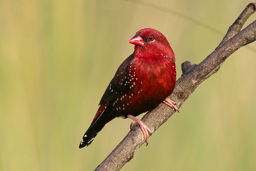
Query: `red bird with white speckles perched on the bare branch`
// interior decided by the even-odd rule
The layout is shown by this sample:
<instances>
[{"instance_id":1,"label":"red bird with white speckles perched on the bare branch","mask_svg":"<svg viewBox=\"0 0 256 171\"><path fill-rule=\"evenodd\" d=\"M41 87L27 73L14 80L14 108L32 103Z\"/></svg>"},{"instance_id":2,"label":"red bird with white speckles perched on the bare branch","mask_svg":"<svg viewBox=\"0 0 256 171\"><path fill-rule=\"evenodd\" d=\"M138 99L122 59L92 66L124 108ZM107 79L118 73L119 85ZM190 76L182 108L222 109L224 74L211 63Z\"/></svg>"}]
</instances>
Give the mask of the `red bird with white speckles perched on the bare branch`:
<instances>
[{"instance_id":1,"label":"red bird with white speckles perched on the bare branch","mask_svg":"<svg viewBox=\"0 0 256 171\"><path fill-rule=\"evenodd\" d=\"M117 117L137 122L148 143L151 131L135 117L155 109L162 102L178 111L175 102L167 99L175 86L176 65L166 37L148 28L138 31L129 43L135 45L134 52L119 66L79 148L90 145L98 132Z\"/></svg>"}]
</instances>

